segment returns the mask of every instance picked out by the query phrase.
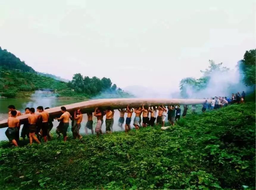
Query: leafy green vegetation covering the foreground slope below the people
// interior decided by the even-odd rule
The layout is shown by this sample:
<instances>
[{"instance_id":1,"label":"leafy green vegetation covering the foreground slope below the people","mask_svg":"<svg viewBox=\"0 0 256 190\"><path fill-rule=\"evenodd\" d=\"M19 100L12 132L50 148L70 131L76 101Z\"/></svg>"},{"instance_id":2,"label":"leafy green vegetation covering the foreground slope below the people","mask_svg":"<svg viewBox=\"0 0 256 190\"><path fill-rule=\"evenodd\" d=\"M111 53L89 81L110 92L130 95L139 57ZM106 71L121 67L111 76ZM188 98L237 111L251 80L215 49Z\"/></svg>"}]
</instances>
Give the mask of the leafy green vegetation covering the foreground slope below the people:
<instances>
[{"instance_id":1,"label":"leafy green vegetation covering the foreground slope below the people","mask_svg":"<svg viewBox=\"0 0 256 190\"><path fill-rule=\"evenodd\" d=\"M9 147L1 189L254 189L255 103L189 114L166 131Z\"/></svg>"}]
</instances>

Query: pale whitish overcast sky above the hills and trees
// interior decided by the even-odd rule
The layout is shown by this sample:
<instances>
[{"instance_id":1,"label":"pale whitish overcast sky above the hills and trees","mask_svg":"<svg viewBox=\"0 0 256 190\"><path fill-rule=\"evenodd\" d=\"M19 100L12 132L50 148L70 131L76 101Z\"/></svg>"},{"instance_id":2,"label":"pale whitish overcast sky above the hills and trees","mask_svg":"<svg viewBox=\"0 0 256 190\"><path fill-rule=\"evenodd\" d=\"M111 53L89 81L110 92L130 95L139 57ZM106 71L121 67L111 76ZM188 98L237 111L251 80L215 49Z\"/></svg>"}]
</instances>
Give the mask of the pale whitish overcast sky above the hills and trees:
<instances>
[{"instance_id":1,"label":"pale whitish overcast sky above the hills and trees","mask_svg":"<svg viewBox=\"0 0 256 190\"><path fill-rule=\"evenodd\" d=\"M255 48L254 0L0 0L0 46L36 71L178 90Z\"/></svg>"}]
</instances>

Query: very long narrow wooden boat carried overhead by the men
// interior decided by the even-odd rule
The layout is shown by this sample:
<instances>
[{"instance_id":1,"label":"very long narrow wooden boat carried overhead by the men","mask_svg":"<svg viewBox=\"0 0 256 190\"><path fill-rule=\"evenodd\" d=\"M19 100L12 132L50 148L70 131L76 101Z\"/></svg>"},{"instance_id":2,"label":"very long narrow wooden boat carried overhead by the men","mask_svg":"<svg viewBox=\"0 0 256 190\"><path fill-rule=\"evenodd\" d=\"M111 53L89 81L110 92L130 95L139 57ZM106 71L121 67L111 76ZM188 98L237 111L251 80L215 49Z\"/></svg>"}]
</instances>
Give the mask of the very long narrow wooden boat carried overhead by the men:
<instances>
[{"instance_id":1,"label":"very long narrow wooden boat carried overhead by the men","mask_svg":"<svg viewBox=\"0 0 256 190\"><path fill-rule=\"evenodd\" d=\"M191 104L203 104L205 99L141 99L141 98L115 98L115 99L95 99L85 102L78 102L69 105L63 105L66 107L67 111L71 114L74 113L74 110L81 109L82 113L93 112L95 107L106 108L111 106L113 109L125 108L127 105L131 107L139 107L142 104L147 106L157 106L157 105L191 105ZM210 103L211 100L208 100ZM61 115L60 107L53 107L47 109L46 111L50 116L59 116ZM29 114L18 116L21 124L28 118ZM7 119L0 121L0 128L7 127Z\"/></svg>"}]
</instances>

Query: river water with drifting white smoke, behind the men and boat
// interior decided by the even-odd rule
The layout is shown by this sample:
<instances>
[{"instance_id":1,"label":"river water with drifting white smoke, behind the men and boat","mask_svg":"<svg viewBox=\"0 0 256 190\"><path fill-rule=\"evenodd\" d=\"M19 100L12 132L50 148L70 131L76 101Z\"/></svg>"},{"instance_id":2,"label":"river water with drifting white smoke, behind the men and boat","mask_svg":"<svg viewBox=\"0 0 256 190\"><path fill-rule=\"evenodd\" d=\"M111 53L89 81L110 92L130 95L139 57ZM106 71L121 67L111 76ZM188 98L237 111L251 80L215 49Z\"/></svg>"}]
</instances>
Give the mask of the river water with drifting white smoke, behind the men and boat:
<instances>
[{"instance_id":1,"label":"river water with drifting white smoke, behind the men and boat","mask_svg":"<svg viewBox=\"0 0 256 190\"><path fill-rule=\"evenodd\" d=\"M55 97L54 94L52 94L51 92L47 92L47 91L35 91L35 93L32 94L28 98L0 99L0 120L6 119L8 117L8 114L7 114L8 108L7 107L9 105L15 105L15 108L17 110L20 110L21 113L24 113L24 109L26 107L34 107L36 109L36 107L38 107L38 106L43 106L43 107L51 108L51 107L72 104L72 103L76 103L76 102L81 102L81 100L74 100L74 99L72 99L72 100L62 100L61 99L60 100L57 97ZM126 117L126 115L125 115L125 117ZM114 131L124 130L118 126L118 118L119 118L119 112L118 112L118 110L115 110L114 126L113 126ZM95 118L93 120L95 121ZM105 118L104 118L104 121L105 121ZM80 129L81 134L85 134L86 122L87 122L87 115L83 114L83 121L81 123L81 129ZM53 123L54 128L56 128L58 124L59 124L59 122L57 120L54 120L54 123ZM94 123L93 129L95 128L95 125L96 124ZM21 125L20 132L21 132L22 126L23 125ZM54 128L52 129L52 131L54 131ZM106 126L104 123L102 125L103 132L105 132L105 128L106 128ZM0 140L8 140L7 137L5 136L5 133L4 133L5 131L6 131L6 128L0 129ZM88 130L88 133L90 133L90 130Z\"/></svg>"}]
</instances>

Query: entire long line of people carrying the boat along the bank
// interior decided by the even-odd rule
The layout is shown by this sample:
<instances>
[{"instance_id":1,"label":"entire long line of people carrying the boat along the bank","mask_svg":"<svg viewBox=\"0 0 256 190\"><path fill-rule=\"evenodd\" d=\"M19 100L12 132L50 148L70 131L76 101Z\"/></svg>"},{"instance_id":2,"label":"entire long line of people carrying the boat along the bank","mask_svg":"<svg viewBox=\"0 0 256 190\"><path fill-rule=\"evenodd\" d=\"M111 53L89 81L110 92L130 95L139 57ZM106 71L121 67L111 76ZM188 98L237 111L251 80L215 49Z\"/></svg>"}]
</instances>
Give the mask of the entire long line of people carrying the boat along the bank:
<instances>
[{"instance_id":1,"label":"entire long line of people carrying the boat along the bank","mask_svg":"<svg viewBox=\"0 0 256 190\"><path fill-rule=\"evenodd\" d=\"M205 102L202 105L202 112L205 112L207 109L219 109L223 106L227 106L233 103L243 103L245 98L245 93L243 91L242 95L238 93L232 94L231 98L227 97L217 97L212 98L212 101L208 103L208 98L205 99ZM129 105L125 109L118 109L120 117L118 120L118 126L123 128L124 124L124 114L127 113L125 120L124 130L128 132L131 130L131 120L132 115L135 113L135 118L133 120L133 126L135 129L139 129L147 126L154 126L155 121L156 125L160 124L162 127L165 126L166 118L168 122L174 126L174 123L177 122L180 117L186 117L188 111L188 105L183 105L183 113L181 115L181 108L179 105L159 105L159 106L147 106L142 105L141 107L132 108ZM19 129L20 129L20 120L17 116L21 115L21 112L15 109L14 105L9 105L9 118L8 118L8 128L5 132L9 141L11 141L15 146L18 146L19 143ZM69 127L69 121L71 120L71 132L74 139L81 139L82 135L79 133L81 128L81 122L83 120L83 114L80 109L74 111L74 115L71 115L64 106L61 107L62 115L59 118L52 118L49 113L46 111L49 107L43 109L42 106L37 107L37 114L35 113L35 108L25 108L24 114L29 114L28 118L23 122L23 128L21 130L21 137L25 139L29 138L29 143L32 144L33 141L40 144L41 139L44 142L51 140L50 131L53 128L53 121L56 119L59 121L59 125L56 128L56 133L58 138L63 135L63 140L67 140L67 131ZM111 107L107 107L106 110L96 107L94 112L87 113L88 121L85 125L85 133L88 134L88 129L91 130L91 133L94 132L99 136L103 134L102 124L103 117L106 115L105 125L106 133L111 133L113 131L114 124L114 113L115 111ZM192 114L196 113L196 105L192 105ZM142 115L142 119L141 119ZM93 116L97 118L95 130L93 130ZM142 122L142 125L141 125Z\"/></svg>"}]
</instances>

